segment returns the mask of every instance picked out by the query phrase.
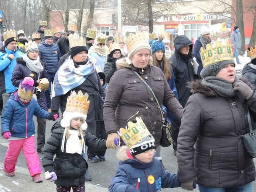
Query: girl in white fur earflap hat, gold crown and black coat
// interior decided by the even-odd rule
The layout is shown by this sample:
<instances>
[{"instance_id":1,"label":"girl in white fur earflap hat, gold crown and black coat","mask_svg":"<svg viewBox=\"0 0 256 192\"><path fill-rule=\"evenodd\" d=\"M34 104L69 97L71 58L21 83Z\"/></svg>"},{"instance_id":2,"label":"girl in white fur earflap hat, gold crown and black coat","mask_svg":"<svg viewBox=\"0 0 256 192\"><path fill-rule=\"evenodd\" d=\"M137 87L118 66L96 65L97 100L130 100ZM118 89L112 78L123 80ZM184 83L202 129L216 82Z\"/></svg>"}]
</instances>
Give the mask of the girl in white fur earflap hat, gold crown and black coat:
<instances>
[{"instance_id":1,"label":"girl in white fur earflap hat, gold crown and black coat","mask_svg":"<svg viewBox=\"0 0 256 192\"><path fill-rule=\"evenodd\" d=\"M96 151L106 150L106 140L90 134L85 122L90 101L88 94L71 92L63 119L54 124L44 147L42 165L45 178L54 181L57 192L85 192L85 173L88 168L82 152L85 145ZM56 157L54 158L54 155ZM54 161L53 161L54 160Z\"/></svg>"}]
</instances>

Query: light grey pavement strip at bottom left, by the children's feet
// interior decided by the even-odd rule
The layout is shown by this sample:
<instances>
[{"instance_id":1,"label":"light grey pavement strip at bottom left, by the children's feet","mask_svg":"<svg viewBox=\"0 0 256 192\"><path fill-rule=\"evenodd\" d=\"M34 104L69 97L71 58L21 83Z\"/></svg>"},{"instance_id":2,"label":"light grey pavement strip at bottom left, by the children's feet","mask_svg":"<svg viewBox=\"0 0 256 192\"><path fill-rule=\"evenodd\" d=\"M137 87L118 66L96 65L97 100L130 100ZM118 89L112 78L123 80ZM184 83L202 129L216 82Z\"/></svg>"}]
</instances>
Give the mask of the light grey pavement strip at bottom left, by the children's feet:
<instances>
[{"instance_id":1,"label":"light grey pavement strip at bottom left, by the children's feet","mask_svg":"<svg viewBox=\"0 0 256 192\"><path fill-rule=\"evenodd\" d=\"M0 168L3 167L3 163L0 163ZM48 182L45 180L44 173L41 174L44 179L41 183L35 183L32 181L29 175L28 169L16 167L15 176L8 177L4 171L0 169L0 192L54 192L56 191L56 185L54 182ZM103 188L98 185L92 185L89 182L85 182L86 192L108 192L107 188ZM72 190L71 190L72 191Z\"/></svg>"}]
</instances>

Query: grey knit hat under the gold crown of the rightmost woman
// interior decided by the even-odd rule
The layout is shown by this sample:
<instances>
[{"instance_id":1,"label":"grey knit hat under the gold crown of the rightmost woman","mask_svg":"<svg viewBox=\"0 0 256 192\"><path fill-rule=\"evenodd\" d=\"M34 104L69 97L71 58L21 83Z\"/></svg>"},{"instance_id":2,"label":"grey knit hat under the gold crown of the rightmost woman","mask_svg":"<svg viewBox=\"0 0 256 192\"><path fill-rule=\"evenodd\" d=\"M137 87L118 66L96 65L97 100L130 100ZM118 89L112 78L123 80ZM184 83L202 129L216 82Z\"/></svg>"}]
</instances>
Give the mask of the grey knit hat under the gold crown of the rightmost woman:
<instances>
[{"instance_id":1,"label":"grey knit hat under the gold crown of the rightmost woman","mask_svg":"<svg viewBox=\"0 0 256 192\"><path fill-rule=\"evenodd\" d=\"M234 64L236 66L234 60L225 60L225 61L218 61L216 63L212 63L207 65L202 69L200 76L205 78L206 76L216 76L221 69L223 69L228 64Z\"/></svg>"}]
</instances>

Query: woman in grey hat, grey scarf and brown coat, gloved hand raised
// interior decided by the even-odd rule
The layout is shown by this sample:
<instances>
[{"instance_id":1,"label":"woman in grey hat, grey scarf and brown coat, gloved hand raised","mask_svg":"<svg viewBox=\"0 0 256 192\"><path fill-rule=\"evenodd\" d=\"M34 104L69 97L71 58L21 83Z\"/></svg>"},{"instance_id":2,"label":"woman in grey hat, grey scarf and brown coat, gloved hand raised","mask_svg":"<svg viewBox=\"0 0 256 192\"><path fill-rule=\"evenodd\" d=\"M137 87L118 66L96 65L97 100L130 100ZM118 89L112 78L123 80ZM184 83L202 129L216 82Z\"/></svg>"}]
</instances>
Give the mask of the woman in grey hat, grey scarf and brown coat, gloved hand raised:
<instances>
[{"instance_id":1,"label":"woman in grey hat, grey scarf and brown coat, gloved hand raised","mask_svg":"<svg viewBox=\"0 0 256 192\"><path fill-rule=\"evenodd\" d=\"M236 77L228 41L201 48L201 59L203 79L190 84L178 135L181 188L192 190L197 179L199 191L252 191L255 166L241 136L248 133L245 103L256 117L256 94Z\"/></svg>"}]
</instances>

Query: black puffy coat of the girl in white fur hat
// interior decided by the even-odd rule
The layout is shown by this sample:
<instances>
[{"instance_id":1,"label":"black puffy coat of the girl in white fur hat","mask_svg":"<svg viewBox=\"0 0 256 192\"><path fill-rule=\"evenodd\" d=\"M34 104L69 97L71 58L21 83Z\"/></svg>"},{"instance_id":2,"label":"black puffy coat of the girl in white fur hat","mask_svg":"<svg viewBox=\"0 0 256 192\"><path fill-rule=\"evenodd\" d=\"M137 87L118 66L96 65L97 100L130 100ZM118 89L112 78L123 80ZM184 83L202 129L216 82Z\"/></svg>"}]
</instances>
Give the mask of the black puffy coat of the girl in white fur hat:
<instances>
[{"instance_id":1,"label":"black puffy coat of the girl in white fur hat","mask_svg":"<svg viewBox=\"0 0 256 192\"><path fill-rule=\"evenodd\" d=\"M46 171L54 171L57 175L57 180L54 181L57 185L77 186L85 182L86 169L88 164L83 158L83 155L75 153L66 153L66 139L64 144L64 151L61 150L62 137L65 128L61 127L60 121L55 123L51 129L51 136L48 138L44 146L44 153L42 157L42 166ZM100 140L95 136L84 131L83 138L85 145L95 151L106 150L106 140ZM81 138L81 137L80 137ZM54 158L54 155L56 157ZM54 161L52 161L54 159Z\"/></svg>"}]
</instances>

